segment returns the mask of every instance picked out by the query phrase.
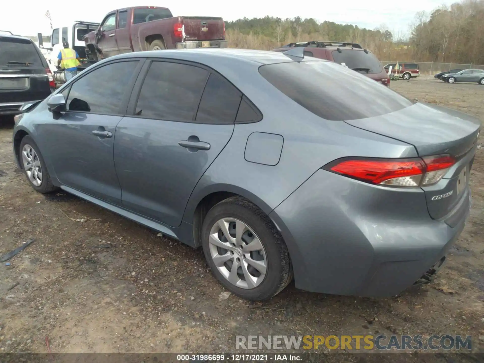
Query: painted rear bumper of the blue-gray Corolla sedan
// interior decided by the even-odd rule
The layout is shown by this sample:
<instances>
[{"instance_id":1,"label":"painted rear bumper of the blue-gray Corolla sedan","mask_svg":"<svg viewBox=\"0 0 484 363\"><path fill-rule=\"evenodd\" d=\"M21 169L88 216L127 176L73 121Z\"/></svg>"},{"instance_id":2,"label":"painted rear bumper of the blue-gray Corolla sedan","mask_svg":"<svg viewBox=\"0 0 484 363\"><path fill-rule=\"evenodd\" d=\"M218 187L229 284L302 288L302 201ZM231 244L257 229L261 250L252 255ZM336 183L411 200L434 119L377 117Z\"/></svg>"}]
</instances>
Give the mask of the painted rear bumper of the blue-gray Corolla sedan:
<instances>
[{"instance_id":1,"label":"painted rear bumper of the blue-gray Corolla sedan","mask_svg":"<svg viewBox=\"0 0 484 363\"><path fill-rule=\"evenodd\" d=\"M287 243L296 287L382 297L413 285L445 256L469 209L469 188L448 224L430 217L419 188L379 187L319 170L270 217Z\"/></svg>"}]
</instances>

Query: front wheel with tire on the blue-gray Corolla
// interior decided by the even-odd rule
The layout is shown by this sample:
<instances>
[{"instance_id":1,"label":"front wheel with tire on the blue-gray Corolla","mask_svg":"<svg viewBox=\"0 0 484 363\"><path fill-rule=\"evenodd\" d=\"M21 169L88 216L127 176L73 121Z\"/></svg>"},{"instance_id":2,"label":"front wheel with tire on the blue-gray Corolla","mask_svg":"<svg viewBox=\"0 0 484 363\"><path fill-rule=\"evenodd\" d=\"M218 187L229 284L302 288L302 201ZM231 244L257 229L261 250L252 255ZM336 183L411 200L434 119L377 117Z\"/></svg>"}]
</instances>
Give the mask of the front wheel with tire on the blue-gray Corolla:
<instances>
[{"instance_id":1,"label":"front wheel with tire on the blue-gray Corolla","mask_svg":"<svg viewBox=\"0 0 484 363\"><path fill-rule=\"evenodd\" d=\"M30 136L25 136L22 139L18 154L24 174L35 191L46 194L57 189L52 184L39 147Z\"/></svg>"}]
</instances>

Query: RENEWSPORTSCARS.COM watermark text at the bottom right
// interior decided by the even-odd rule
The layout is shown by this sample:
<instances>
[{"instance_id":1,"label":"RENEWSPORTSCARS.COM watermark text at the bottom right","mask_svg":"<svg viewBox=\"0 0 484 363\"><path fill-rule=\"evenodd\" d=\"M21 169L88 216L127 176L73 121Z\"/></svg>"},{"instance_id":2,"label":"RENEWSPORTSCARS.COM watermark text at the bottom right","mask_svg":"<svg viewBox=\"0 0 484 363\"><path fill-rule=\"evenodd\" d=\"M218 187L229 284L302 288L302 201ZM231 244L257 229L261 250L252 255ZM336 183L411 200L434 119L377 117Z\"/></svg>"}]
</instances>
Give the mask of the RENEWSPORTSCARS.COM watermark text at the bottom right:
<instances>
[{"instance_id":1,"label":"RENEWSPORTSCARS.COM watermark text at the bottom right","mask_svg":"<svg viewBox=\"0 0 484 363\"><path fill-rule=\"evenodd\" d=\"M236 335L235 349L472 350L471 335Z\"/></svg>"}]
</instances>

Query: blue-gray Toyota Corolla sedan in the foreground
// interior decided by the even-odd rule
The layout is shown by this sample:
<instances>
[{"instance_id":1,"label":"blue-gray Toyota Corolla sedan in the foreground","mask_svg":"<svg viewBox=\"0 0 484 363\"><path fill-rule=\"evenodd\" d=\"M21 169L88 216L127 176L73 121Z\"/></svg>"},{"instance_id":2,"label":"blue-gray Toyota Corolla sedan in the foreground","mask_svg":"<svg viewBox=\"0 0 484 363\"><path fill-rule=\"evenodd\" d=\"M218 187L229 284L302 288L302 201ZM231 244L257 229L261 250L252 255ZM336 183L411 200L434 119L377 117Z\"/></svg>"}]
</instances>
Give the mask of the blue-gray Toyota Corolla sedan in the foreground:
<instances>
[{"instance_id":1,"label":"blue-gray Toyota Corolla sedan in the foreground","mask_svg":"<svg viewBox=\"0 0 484 363\"><path fill-rule=\"evenodd\" d=\"M110 57L16 117L32 188L203 248L248 300L390 296L464 228L480 121L339 64L193 49Z\"/></svg>"}]
</instances>

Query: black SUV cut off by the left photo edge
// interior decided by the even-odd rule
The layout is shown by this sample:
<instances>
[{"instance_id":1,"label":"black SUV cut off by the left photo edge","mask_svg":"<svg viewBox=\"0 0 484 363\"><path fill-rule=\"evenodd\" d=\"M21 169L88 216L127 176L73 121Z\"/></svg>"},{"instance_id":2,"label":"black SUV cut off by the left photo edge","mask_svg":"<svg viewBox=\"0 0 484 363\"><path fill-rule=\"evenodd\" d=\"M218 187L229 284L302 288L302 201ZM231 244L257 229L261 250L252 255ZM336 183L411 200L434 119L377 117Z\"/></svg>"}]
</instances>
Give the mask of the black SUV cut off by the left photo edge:
<instances>
[{"instance_id":1,"label":"black SUV cut off by the left photo edge","mask_svg":"<svg viewBox=\"0 0 484 363\"><path fill-rule=\"evenodd\" d=\"M29 39L0 34L0 115L17 115L55 89L40 49Z\"/></svg>"}]
</instances>

